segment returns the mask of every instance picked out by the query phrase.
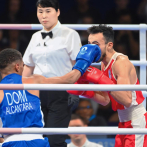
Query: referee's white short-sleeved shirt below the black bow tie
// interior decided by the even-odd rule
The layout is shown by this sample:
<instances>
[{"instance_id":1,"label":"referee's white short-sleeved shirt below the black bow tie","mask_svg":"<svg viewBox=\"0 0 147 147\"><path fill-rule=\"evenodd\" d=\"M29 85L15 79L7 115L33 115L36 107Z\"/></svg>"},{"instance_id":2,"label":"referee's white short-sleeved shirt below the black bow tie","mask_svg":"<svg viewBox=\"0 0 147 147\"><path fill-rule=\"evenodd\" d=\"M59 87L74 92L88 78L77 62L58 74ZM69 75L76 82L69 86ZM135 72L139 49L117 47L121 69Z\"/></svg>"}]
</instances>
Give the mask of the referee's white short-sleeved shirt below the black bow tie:
<instances>
[{"instance_id":1,"label":"referee's white short-sleeved shirt below the black bow tie","mask_svg":"<svg viewBox=\"0 0 147 147\"><path fill-rule=\"evenodd\" d=\"M76 59L81 47L79 34L59 21L51 31L53 38L42 39L41 32L47 32L44 29L34 33L25 51L24 64L35 67L33 74L55 77L72 70L71 60Z\"/></svg>"}]
</instances>

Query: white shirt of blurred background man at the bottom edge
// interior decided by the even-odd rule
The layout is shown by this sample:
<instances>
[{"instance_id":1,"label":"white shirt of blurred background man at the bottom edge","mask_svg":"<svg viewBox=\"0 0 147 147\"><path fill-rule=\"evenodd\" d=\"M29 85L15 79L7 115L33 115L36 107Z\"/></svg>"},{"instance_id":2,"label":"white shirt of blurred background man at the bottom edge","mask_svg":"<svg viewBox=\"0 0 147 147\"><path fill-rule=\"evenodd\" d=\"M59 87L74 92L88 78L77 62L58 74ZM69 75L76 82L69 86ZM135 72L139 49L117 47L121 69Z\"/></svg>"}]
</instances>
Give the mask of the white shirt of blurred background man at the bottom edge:
<instances>
[{"instance_id":1,"label":"white shirt of blurred background man at the bottom edge","mask_svg":"<svg viewBox=\"0 0 147 147\"><path fill-rule=\"evenodd\" d=\"M76 145L74 145L72 142L69 143L67 145L67 147L78 147ZM86 142L84 143L84 145L82 145L81 147L103 147L100 144L94 143L94 142L90 142L88 139L86 140Z\"/></svg>"}]
</instances>

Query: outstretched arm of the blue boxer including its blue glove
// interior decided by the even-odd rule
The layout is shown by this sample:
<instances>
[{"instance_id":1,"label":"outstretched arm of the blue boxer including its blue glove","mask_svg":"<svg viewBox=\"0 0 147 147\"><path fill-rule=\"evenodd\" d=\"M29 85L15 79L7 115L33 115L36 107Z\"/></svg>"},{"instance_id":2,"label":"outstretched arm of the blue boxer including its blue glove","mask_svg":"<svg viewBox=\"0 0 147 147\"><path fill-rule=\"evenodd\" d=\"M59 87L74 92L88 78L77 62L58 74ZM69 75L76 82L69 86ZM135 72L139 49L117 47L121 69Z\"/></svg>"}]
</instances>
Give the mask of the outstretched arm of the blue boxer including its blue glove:
<instances>
[{"instance_id":1,"label":"outstretched arm of the blue boxer including its blue glove","mask_svg":"<svg viewBox=\"0 0 147 147\"><path fill-rule=\"evenodd\" d=\"M73 70L70 73L62 77L52 78L45 78L43 76L33 75L32 80L30 80L32 81L32 83L40 84L73 84L86 71L90 64L92 62L98 61L100 57L101 49L99 48L99 46L94 44L87 44L81 47L76 58L76 64L74 65Z\"/></svg>"}]
</instances>

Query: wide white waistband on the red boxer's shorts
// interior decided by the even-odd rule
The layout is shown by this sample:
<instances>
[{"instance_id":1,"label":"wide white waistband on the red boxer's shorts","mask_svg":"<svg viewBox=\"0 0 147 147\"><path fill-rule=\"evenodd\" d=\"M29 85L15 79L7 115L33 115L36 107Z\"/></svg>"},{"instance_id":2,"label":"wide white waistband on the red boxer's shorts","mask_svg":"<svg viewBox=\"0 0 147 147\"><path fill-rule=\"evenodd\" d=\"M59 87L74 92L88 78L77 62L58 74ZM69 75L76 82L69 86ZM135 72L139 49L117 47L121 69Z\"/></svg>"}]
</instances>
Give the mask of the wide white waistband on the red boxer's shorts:
<instances>
[{"instance_id":1,"label":"wide white waistband on the red boxer's shorts","mask_svg":"<svg viewBox=\"0 0 147 147\"><path fill-rule=\"evenodd\" d=\"M127 122L135 120L146 113L146 110L142 104L131 106L124 110L117 110L120 122Z\"/></svg>"}]
</instances>

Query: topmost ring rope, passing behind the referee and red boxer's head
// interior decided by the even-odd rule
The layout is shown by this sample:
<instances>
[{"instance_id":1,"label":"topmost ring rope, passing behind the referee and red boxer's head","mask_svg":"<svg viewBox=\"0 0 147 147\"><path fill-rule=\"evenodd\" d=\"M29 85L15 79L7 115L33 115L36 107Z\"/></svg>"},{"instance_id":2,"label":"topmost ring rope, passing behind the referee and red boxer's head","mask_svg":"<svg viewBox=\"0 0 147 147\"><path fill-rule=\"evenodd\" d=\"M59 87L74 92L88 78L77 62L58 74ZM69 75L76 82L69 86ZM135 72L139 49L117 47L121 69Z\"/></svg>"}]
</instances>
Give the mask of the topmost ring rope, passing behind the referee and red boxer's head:
<instances>
[{"instance_id":1,"label":"topmost ring rope, passing behind the referee and red boxer's head","mask_svg":"<svg viewBox=\"0 0 147 147\"><path fill-rule=\"evenodd\" d=\"M93 25L98 25L98 24L63 24L63 25L69 28L75 29L75 30L87 30L89 27ZM146 24L140 24L140 25L108 24L108 26L112 26L114 30L140 30L140 29L147 30ZM0 29L9 29L9 30L15 30L15 29L17 30L41 30L42 28L43 26L41 24L0 24Z\"/></svg>"}]
</instances>

